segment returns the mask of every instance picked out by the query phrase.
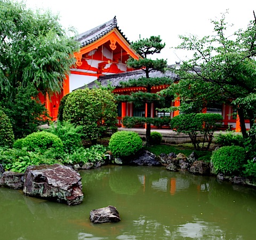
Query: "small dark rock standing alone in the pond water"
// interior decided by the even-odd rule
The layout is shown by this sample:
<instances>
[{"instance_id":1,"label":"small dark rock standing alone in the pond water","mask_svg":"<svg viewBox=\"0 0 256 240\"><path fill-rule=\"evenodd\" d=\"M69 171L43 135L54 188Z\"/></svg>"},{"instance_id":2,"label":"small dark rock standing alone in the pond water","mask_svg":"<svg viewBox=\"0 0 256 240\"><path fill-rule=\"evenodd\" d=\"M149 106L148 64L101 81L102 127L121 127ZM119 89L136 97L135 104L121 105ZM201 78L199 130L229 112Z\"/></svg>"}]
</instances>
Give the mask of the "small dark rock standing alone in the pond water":
<instances>
[{"instance_id":1,"label":"small dark rock standing alone in the pond water","mask_svg":"<svg viewBox=\"0 0 256 240\"><path fill-rule=\"evenodd\" d=\"M119 222L121 218L114 206L102 207L90 212L90 220L93 223Z\"/></svg>"}]
</instances>

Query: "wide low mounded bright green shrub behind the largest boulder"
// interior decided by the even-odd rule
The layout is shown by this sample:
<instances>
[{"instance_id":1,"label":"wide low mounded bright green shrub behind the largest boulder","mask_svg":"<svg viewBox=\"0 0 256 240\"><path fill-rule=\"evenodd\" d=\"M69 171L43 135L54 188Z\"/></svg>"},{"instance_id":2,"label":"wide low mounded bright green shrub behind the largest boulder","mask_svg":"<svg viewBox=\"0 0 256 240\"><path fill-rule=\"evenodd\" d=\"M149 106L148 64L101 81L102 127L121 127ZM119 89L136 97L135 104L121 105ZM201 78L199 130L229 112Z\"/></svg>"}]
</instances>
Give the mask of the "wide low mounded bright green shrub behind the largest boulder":
<instances>
[{"instance_id":1,"label":"wide low mounded bright green shrub behind the largest boulder","mask_svg":"<svg viewBox=\"0 0 256 240\"><path fill-rule=\"evenodd\" d=\"M42 131L31 133L27 135L26 138L15 141L14 147L26 147L28 151L34 151L37 149L45 151L49 148L54 148L56 151L62 151L63 143L57 135Z\"/></svg>"}]
</instances>

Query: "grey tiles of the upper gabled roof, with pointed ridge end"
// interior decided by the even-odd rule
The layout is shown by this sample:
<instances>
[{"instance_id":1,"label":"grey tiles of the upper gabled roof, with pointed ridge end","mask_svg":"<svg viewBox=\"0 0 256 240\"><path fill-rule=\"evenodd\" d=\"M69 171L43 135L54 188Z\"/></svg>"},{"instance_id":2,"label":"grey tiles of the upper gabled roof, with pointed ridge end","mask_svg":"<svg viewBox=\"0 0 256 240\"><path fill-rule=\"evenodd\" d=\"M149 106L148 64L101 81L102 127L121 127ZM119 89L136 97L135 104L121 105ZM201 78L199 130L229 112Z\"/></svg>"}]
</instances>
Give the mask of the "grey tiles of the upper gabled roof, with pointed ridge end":
<instances>
[{"instance_id":1,"label":"grey tiles of the upper gabled roof, with pointed ridge end","mask_svg":"<svg viewBox=\"0 0 256 240\"><path fill-rule=\"evenodd\" d=\"M125 40L129 43L125 35L122 33L122 31L117 26L117 20L116 16L111 19L108 22L103 23L102 25L95 27L91 30L85 31L82 34L79 34L76 36L76 39L78 42L81 43L81 47L89 45L90 43L93 43L97 41L99 38L105 36L107 33L109 33L111 30L116 28L119 33L125 38Z\"/></svg>"}]
</instances>

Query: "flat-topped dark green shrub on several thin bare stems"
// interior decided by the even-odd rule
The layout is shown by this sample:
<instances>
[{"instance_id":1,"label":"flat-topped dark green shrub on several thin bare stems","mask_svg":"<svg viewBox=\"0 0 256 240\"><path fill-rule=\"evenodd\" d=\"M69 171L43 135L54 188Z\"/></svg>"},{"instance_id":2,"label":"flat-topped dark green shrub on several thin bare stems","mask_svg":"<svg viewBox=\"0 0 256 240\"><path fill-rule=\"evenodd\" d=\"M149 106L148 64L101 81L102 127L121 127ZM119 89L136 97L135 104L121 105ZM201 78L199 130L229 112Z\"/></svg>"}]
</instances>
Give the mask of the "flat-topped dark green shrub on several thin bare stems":
<instances>
[{"instance_id":1,"label":"flat-topped dark green shrub on several thin bare stems","mask_svg":"<svg viewBox=\"0 0 256 240\"><path fill-rule=\"evenodd\" d=\"M191 142L197 150L200 149L198 134L204 134L203 147L204 143L207 142L207 150L209 149L212 142L213 133L220 125L220 122L222 120L223 118L219 114L180 114L172 118L171 127L174 131L178 133L188 134Z\"/></svg>"}]
</instances>

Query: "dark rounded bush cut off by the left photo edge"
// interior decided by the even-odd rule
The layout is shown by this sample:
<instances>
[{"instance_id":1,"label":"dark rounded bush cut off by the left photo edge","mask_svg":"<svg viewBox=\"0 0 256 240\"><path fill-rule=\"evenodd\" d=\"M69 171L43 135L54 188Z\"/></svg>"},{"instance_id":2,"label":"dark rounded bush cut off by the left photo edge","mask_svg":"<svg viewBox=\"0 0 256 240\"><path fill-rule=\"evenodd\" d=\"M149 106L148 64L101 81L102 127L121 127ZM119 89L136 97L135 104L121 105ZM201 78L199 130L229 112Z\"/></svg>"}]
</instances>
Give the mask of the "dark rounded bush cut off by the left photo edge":
<instances>
[{"instance_id":1,"label":"dark rounded bush cut off by the left photo edge","mask_svg":"<svg viewBox=\"0 0 256 240\"><path fill-rule=\"evenodd\" d=\"M0 146L12 147L14 135L9 117L0 110Z\"/></svg>"}]
</instances>

